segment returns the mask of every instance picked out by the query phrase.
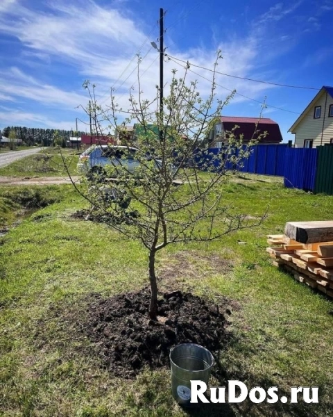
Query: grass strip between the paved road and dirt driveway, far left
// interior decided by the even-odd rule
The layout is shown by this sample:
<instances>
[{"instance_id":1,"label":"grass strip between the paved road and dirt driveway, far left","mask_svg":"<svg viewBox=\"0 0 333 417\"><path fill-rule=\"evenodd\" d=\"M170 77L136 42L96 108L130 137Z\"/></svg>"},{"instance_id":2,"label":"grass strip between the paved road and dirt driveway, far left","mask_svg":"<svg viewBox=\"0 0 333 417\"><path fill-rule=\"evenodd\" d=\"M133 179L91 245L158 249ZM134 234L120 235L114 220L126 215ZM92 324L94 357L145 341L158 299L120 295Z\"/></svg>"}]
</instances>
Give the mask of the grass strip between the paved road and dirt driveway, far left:
<instances>
[{"instance_id":1,"label":"grass strip between the paved road and dirt driveway, far left","mask_svg":"<svg viewBox=\"0 0 333 417\"><path fill-rule=\"evenodd\" d=\"M26 158L0 168L0 176L68 177L66 165L71 175L77 175L78 156L76 152L76 149L44 148L39 154L26 156Z\"/></svg>"}]
</instances>

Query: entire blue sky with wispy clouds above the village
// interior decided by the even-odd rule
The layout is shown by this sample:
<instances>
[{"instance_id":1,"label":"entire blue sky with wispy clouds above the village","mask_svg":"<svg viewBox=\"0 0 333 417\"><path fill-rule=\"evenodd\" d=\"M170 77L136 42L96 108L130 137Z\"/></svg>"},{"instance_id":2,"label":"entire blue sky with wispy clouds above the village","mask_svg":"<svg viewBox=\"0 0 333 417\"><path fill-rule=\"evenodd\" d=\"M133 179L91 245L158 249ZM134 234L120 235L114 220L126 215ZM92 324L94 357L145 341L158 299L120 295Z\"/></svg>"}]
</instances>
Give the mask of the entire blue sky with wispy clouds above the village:
<instances>
[{"instance_id":1,"label":"entire blue sky with wispy clouds above the village","mask_svg":"<svg viewBox=\"0 0 333 417\"><path fill-rule=\"evenodd\" d=\"M137 91L138 53L142 90L153 97L159 63L151 41L159 35L160 7L167 11L164 47L171 56L212 68L221 49L218 70L225 74L313 88L333 85L333 0L1 0L0 129L75 129L76 117L88 122L80 107L89 100L85 79L96 84L103 106L113 87L120 105L128 107L130 88ZM181 65L166 62L166 82L172 68L182 74ZM210 72L191 70L206 95L209 83L201 77L210 78ZM293 139L289 127L317 92L222 75L217 83L221 99L226 89L237 90L223 115L257 117L266 97L263 116L280 124L284 140ZM83 122L78 129L89 130Z\"/></svg>"}]
</instances>

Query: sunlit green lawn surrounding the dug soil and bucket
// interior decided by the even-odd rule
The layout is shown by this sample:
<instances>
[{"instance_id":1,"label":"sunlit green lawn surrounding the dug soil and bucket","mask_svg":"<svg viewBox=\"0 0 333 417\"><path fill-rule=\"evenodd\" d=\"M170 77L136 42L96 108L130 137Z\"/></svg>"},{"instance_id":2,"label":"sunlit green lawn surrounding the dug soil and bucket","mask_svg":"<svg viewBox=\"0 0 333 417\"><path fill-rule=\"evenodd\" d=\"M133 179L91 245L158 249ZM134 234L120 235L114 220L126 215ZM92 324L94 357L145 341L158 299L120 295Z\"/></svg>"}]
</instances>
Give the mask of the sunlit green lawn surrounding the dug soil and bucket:
<instances>
[{"instance_id":1,"label":"sunlit green lawn surrounding the dug soil and bucket","mask_svg":"<svg viewBox=\"0 0 333 417\"><path fill-rule=\"evenodd\" d=\"M145 370L130 381L112 377L78 332L87 294L142 288L147 254L103 224L71 218L85 202L70 186L53 186L56 202L1 240L1 416L332 415L332 301L274 268L265 248L266 234L282 233L287 221L332 220L333 197L286 189L268 177L234 180L225 186L225 204L254 218L268 205L266 221L220 243L168 247L157 260L160 275L168 271L162 287L234 300L232 338L221 352L225 380L278 386L287 395L291 386L319 386L319 404L182 410L171 398L169 370ZM233 270L215 268L213 255Z\"/></svg>"}]
</instances>

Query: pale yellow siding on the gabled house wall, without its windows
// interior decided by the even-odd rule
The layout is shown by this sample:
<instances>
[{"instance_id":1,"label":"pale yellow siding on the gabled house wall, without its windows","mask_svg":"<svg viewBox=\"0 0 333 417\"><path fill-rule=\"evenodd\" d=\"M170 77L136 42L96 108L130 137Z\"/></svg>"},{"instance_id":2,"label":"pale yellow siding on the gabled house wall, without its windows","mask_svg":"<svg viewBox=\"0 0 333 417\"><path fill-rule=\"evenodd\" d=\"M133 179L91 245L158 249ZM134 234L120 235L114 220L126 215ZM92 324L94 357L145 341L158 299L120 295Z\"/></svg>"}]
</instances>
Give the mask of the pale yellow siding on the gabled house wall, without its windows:
<instances>
[{"instance_id":1,"label":"pale yellow siding on the gabled house wall, without its windows","mask_svg":"<svg viewBox=\"0 0 333 417\"><path fill-rule=\"evenodd\" d=\"M326 94L327 103L325 111ZM296 147L304 147L304 141L307 139L312 139L314 141L312 144L313 147L324 145L325 143L330 143L331 138L333 138L333 117L328 117L330 104L333 104L333 99L327 92L324 91L323 94L320 95L314 102L314 104L312 104L311 108L308 109L307 114L302 118L302 120L293 130L292 133L296 133ZM321 106L321 117L318 119L314 119L314 108L316 106ZM325 123L323 126L324 111ZM321 139L322 131L323 141Z\"/></svg>"}]
</instances>

